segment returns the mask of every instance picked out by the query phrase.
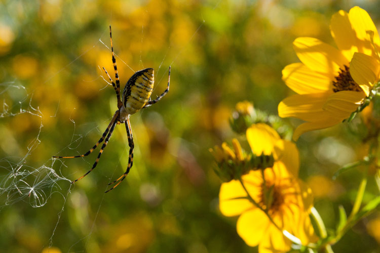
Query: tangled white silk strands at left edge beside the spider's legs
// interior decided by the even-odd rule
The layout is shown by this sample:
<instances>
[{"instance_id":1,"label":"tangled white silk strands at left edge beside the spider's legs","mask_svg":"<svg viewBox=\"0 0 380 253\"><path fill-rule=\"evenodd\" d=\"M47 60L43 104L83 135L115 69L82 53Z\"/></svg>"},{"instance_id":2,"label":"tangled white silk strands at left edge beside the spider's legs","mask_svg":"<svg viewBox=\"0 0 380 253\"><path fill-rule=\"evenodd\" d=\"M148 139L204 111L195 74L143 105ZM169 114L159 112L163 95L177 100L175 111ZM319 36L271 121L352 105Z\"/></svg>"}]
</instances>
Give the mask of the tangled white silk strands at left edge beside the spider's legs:
<instances>
[{"instance_id":1,"label":"tangled white silk strands at left edge beside the spider's legs","mask_svg":"<svg viewBox=\"0 0 380 253\"><path fill-rule=\"evenodd\" d=\"M53 170L54 160L51 158L40 167L28 165L28 156L41 143L39 138L43 128L43 114L39 107L32 106L32 97L25 87L16 85L15 82L0 83L0 99L3 104L0 120L23 113L41 119L39 131L27 146L24 157L0 158L0 197L3 202L0 203L0 208L17 201L29 202L33 207L43 206L54 192L61 190L58 181L69 181ZM7 104L9 100L12 101L12 106Z\"/></svg>"}]
</instances>

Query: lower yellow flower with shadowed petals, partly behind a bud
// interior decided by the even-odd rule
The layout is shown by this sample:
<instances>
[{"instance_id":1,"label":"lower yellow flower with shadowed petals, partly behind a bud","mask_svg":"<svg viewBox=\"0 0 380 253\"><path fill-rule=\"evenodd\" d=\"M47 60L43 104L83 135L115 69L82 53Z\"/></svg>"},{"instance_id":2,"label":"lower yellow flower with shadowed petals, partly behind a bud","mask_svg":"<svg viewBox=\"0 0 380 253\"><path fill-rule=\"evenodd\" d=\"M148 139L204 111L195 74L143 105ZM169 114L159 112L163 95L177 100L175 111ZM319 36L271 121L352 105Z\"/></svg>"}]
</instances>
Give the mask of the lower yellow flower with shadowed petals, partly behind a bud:
<instances>
[{"instance_id":1,"label":"lower yellow flower with shadowed petals, partly behind a bud","mask_svg":"<svg viewBox=\"0 0 380 253\"><path fill-rule=\"evenodd\" d=\"M223 183L219 192L221 213L240 215L238 234L248 245L259 245L260 253L290 250L291 241L283 230L297 237L303 245L314 241L309 218L313 196L310 188L297 178L296 146L282 140L274 129L262 123L247 130L247 140L254 154L273 154L275 162L264 171L250 171L241 181Z\"/></svg>"}]
</instances>

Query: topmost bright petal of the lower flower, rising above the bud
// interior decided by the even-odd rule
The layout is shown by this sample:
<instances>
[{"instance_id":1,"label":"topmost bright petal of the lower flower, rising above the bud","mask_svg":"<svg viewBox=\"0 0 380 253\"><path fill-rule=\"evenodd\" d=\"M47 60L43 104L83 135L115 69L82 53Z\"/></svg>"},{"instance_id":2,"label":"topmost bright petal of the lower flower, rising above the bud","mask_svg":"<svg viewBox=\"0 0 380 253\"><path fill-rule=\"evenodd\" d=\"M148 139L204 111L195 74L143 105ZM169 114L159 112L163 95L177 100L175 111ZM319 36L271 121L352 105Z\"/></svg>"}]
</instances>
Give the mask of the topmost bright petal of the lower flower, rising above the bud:
<instances>
[{"instance_id":1,"label":"topmost bright petal of the lower flower, rising above the bud","mask_svg":"<svg viewBox=\"0 0 380 253\"><path fill-rule=\"evenodd\" d=\"M272 154L279 139L278 133L264 123L253 124L247 129L247 140L255 155L261 155L262 152L266 155Z\"/></svg>"}]
</instances>

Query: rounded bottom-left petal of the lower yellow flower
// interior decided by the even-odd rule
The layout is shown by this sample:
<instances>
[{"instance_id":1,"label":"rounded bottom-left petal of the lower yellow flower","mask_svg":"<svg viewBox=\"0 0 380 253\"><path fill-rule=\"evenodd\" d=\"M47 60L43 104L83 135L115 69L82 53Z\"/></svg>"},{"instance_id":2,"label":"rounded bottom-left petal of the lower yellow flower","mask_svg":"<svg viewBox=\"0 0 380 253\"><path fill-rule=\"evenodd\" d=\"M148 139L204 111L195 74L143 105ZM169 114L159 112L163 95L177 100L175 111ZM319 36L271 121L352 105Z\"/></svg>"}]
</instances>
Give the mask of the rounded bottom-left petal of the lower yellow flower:
<instances>
[{"instance_id":1,"label":"rounded bottom-left petal of the lower yellow flower","mask_svg":"<svg viewBox=\"0 0 380 253\"><path fill-rule=\"evenodd\" d=\"M267 237L270 221L260 209L250 210L239 217L236 229L249 246L256 246L263 237Z\"/></svg>"}]
</instances>

